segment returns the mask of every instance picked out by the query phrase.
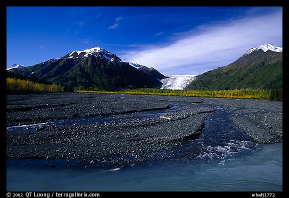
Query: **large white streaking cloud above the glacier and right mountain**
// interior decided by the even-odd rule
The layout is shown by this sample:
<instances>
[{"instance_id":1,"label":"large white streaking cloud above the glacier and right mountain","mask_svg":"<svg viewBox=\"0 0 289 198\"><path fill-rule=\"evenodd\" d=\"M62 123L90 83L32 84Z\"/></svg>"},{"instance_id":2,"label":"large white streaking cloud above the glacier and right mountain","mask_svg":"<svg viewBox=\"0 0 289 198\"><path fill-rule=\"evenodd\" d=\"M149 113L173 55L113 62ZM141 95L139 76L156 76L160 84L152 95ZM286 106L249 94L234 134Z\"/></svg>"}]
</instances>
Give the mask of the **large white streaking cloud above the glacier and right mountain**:
<instances>
[{"instance_id":1,"label":"large white streaking cloud above the glacier and right mountain","mask_svg":"<svg viewBox=\"0 0 289 198\"><path fill-rule=\"evenodd\" d=\"M164 74L200 74L233 62L251 47L281 45L282 9L267 15L204 24L182 35L170 44L143 45L127 51L121 58L153 66Z\"/></svg>"}]
</instances>

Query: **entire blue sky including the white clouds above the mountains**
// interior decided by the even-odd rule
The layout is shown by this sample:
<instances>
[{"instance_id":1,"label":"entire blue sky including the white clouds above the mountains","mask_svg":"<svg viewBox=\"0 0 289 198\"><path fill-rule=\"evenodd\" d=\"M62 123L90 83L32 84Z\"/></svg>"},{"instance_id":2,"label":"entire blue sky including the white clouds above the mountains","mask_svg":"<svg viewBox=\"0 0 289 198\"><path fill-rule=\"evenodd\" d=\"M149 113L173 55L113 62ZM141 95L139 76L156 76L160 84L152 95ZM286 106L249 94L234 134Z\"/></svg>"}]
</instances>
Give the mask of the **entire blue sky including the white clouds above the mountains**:
<instances>
[{"instance_id":1,"label":"entire blue sky including the white clouds above the mountains","mask_svg":"<svg viewBox=\"0 0 289 198\"><path fill-rule=\"evenodd\" d=\"M99 46L163 74L201 74L282 46L282 7L7 7L7 67Z\"/></svg>"}]
</instances>

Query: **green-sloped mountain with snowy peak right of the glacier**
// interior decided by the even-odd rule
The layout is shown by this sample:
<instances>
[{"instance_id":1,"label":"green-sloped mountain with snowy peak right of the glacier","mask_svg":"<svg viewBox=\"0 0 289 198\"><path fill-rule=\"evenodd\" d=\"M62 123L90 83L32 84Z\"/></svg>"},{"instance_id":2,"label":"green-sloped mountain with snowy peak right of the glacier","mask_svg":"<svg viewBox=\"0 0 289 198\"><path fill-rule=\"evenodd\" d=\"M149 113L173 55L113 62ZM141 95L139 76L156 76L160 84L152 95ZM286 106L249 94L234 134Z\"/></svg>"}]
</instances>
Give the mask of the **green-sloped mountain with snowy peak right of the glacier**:
<instances>
[{"instance_id":1,"label":"green-sloped mountain with snowy peak right of the glacier","mask_svg":"<svg viewBox=\"0 0 289 198\"><path fill-rule=\"evenodd\" d=\"M282 88L282 47L263 44L245 52L227 66L196 76L187 89Z\"/></svg>"}]
</instances>

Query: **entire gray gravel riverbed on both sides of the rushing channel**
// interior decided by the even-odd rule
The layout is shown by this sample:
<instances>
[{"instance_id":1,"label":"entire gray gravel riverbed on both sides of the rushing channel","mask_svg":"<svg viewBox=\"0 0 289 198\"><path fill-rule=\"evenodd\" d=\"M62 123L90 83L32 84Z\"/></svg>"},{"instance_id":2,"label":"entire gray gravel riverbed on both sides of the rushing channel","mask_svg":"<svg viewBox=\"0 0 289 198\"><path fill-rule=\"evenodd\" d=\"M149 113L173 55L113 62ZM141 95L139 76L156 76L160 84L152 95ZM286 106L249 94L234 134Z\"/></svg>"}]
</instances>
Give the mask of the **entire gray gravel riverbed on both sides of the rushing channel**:
<instances>
[{"instance_id":1,"label":"entire gray gravel riverbed on both sides of the rushing channel","mask_svg":"<svg viewBox=\"0 0 289 198\"><path fill-rule=\"evenodd\" d=\"M259 143L282 142L282 102L161 95L47 93L7 95L7 158L86 158L89 162L162 157L197 138L216 106ZM157 116L127 116L156 112ZM134 115L133 114L133 115ZM45 125L51 120L117 116L96 123Z\"/></svg>"}]
</instances>

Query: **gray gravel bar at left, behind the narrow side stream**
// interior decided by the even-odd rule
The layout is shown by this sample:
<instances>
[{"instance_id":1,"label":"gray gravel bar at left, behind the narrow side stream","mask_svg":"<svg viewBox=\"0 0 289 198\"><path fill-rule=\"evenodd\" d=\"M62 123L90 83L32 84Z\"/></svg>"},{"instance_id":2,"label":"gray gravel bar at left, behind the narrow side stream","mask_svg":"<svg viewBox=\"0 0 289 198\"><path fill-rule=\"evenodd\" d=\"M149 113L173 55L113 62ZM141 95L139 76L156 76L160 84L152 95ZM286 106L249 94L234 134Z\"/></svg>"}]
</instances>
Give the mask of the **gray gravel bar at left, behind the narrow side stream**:
<instances>
[{"instance_id":1,"label":"gray gravel bar at left, behind the narrow side stream","mask_svg":"<svg viewBox=\"0 0 289 198\"><path fill-rule=\"evenodd\" d=\"M94 93L7 95L7 126L169 107L166 101L147 102L143 98L142 95Z\"/></svg>"}]
</instances>

